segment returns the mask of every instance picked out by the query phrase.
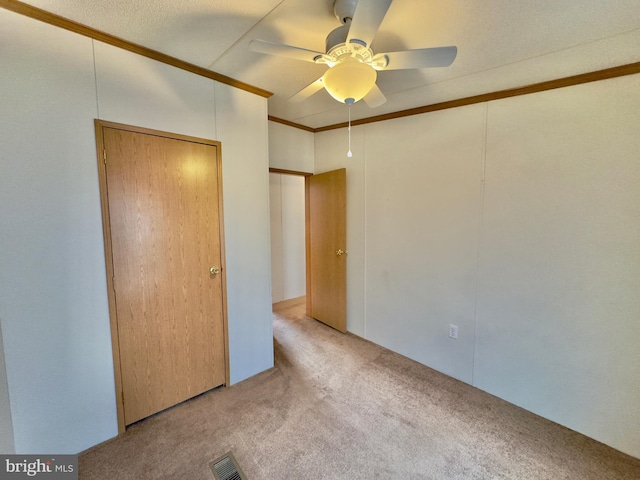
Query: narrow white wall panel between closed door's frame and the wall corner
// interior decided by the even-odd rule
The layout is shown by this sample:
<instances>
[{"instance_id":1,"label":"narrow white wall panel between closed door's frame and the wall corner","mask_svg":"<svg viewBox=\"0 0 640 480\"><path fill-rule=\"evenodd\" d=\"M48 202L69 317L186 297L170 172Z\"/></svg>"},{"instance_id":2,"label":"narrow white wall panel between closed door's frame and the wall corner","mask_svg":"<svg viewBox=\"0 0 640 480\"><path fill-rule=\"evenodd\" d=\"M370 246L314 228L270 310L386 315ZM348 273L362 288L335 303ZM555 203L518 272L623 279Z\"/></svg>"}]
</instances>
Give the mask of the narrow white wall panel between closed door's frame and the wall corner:
<instances>
[{"instance_id":1,"label":"narrow white wall panel between closed door's frame and the wall corner","mask_svg":"<svg viewBox=\"0 0 640 480\"><path fill-rule=\"evenodd\" d=\"M216 84L231 384L273 367L267 101Z\"/></svg>"}]
</instances>

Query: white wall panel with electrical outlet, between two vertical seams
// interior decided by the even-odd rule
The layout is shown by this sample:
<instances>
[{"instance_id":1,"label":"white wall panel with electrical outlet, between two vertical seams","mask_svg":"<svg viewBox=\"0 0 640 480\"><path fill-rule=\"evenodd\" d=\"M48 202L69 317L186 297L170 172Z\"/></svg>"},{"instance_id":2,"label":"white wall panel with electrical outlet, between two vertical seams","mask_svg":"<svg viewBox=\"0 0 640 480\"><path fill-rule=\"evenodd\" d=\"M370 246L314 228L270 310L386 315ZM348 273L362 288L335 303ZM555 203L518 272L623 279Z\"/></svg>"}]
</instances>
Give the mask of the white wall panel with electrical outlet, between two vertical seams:
<instances>
[{"instance_id":1,"label":"white wall panel with electrical outlet, between two vertical seams","mask_svg":"<svg viewBox=\"0 0 640 480\"><path fill-rule=\"evenodd\" d=\"M485 108L366 129L368 338L467 383Z\"/></svg>"}]
</instances>

